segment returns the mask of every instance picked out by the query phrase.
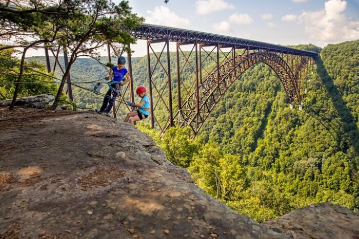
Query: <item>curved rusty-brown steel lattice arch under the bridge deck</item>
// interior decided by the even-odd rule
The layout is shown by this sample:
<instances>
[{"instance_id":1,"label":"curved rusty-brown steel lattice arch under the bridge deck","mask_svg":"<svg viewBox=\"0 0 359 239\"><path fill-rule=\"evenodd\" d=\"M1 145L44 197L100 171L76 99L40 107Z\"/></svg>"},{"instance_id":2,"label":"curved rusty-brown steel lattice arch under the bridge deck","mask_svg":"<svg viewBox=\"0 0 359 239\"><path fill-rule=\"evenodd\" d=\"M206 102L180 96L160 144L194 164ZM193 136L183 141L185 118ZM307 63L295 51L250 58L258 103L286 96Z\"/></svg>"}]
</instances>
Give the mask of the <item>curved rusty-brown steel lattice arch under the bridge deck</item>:
<instances>
[{"instance_id":1,"label":"curved rusty-brown steel lattice arch under the bridge deck","mask_svg":"<svg viewBox=\"0 0 359 239\"><path fill-rule=\"evenodd\" d=\"M199 85L198 104L196 92L193 91L174 115L174 119L178 118L178 120L174 121L180 127L189 126L194 133L193 137L195 137L216 103L232 83L259 62L267 64L276 73L284 86L290 103L293 104L295 101L299 104L302 103L296 73L292 72L288 63L279 54L271 52L248 53L245 51L235 59L232 58L221 64L219 71L217 69L213 70ZM217 77L217 74L220 74L219 77ZM169 126L166 125L166 128Z\"/></svg>"}]
</instances>

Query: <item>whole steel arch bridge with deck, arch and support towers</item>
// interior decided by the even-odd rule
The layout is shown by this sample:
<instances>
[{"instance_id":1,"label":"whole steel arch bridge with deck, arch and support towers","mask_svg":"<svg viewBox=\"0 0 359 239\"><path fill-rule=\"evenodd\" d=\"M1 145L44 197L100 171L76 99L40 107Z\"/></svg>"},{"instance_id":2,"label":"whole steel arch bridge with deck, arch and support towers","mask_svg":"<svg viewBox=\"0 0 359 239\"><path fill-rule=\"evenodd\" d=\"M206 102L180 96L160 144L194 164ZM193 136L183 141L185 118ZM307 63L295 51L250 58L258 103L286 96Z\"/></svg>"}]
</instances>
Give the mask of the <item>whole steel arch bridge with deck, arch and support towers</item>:
<instances>
[{"instance_id":1,"label":"whole steel arch bridge with deck, arch and support towers","mask_svg":"<svg viewBox=\"0 0 359 239\"><path fill-rule=\"evenodd\" d=\"M216 103L231 84L247 69L258 62L267 64L281 80L291 107L303 106L306 82L317 53L288 48L266 42L247 40L223 35L184 29L143 24L129 32L137 39L147 41L148 92L151 104L151 125L161 130L161 135L173 125L189 126L195 137ZM170 42L176 44L176 69L171 69ZM158 45L161 51L155 52ZM191 49L183 51L183 47ZM130 47L130 46L129 46ZM58 53L51 53L59 67ZM111 44L108 44L108 58L111 62ZM112 47L112 50L114 48ZM66 53L66 47L64 47ZM50 72L48 50L45 46L47 67ZM190 60L190 57L194 58ZM67 67L67 54L64 54ZM212 66L210 68L209 66ZM184 79L184 69L189 68L192 82ZM53 69L53 70L54 70ZM64 73L64 69L61 69ZM131 81L124 90L124 97L134 99L134 85L131 55L128 54L128 70ZM173 71L176 72L175 79ZM165 75L166 82L156 82L156 74ZM172 74L171 74L172 73ZM68 74L67 94L73 99L71 80ZM116 110L125 105L123 101L114 106ZM161 105L161 107L159 106ZM159 112L161 108L161 112ZM156 111L157 110L157 111ZM159 112L157 114L157 112Z\"/></svg>"}]
</instances>

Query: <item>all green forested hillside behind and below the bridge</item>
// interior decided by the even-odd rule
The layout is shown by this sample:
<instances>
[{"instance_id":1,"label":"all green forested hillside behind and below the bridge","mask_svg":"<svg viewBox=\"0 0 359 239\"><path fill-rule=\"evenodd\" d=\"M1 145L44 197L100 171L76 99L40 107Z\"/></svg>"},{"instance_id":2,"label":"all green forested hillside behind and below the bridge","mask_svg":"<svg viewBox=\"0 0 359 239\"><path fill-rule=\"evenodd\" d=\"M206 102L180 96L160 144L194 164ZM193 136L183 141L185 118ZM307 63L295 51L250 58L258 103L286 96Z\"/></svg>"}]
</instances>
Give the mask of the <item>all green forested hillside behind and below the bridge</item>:
<instances>
[{"instance_id":1,"label":"all green forested hillside behind and below the bridge","mask_svg":"<svg viewBox=\"0 0 359 239\"><path fill-rule=\"evenodd\" d=\"M293 47L321 51L313 45ZM152 66L153 61L154 57ZM166 69L166 59L162 63ZM359 40L325 47L316 64L302 111L290 110L280 80L259 63L233 83L195 140L188 139L186 129L172 128L159 139L148 124L137 127L155 138L171 162L187 167L198 186L257 221L323 201L357 211ZM171 68L175 67L171 53ZM89 59L78 59L71 71L73 81L93 81L106 74ZM133 74L135 86L148 86L146 57L133 59ZM165 89L164 73L153 76L158 89ZM193 79L189 67L182 77L189 86ZM176 71L172 80L175 86ZM93 93L73 91L79 106L95 108L102 101ZM176 91L174 102L175 97ZM156 108L159 121L166 120L163 109L161 104ZM118 116L124 113L125 108Z\"/></svg>"}]
</instances>

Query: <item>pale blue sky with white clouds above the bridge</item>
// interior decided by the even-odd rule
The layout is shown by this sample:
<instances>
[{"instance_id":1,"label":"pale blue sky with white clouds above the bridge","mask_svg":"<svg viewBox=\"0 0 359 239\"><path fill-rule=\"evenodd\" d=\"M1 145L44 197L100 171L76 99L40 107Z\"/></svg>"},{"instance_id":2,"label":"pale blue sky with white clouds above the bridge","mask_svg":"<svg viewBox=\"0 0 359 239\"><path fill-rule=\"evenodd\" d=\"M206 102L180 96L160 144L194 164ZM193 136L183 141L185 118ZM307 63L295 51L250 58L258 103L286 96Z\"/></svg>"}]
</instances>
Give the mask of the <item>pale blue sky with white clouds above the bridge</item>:
<instances>
[{"instance_id":1,"label":"pale blue sky with white clouds above the bridge","mask_svg":"<svg viewBox=\"0 0 359 239\"><path fill-rule=\"evenodd\" d=\"M118 3L119 0L115 0ZM130 0L146 23L281 45L359 39L359 0ZM145 44L133 46L142 56Z\"/></svg>"}]
</instances>

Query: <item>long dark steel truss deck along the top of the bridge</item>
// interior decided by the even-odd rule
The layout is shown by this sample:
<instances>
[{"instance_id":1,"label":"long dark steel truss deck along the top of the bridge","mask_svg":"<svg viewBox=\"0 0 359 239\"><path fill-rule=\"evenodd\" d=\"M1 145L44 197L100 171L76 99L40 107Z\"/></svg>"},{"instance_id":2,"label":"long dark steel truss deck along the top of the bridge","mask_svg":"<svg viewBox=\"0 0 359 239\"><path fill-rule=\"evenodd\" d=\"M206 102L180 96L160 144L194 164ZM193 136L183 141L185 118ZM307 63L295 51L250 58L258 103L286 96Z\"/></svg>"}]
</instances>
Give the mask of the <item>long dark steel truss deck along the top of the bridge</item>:
<instances>
[{"instance_id":1,"label":"long dark steel truss deck along the top of the bridge","mask_svg":"<svg viewBox=\"0 0 359 239\"><path fill-rule=\"evenodd\" d=\"M169 39L169 41L176 42L189 42L197 41L198 44L204 44L208 46L215 46L219 44L221 47L235 47L237 49L249 50L267 50L276 53L301 55L309 57L317 57L318 53L297 50L294 48L284 47L280 45L274 45L266 42L247 40L242 38L236 38L231 36L223 36L205 32L190 31L179 28L171 28L164 26L156 26L150 24L143 24L133 30L130 30L131 34L137 39L161 41Z\"/></svg>"}]
</instances>

